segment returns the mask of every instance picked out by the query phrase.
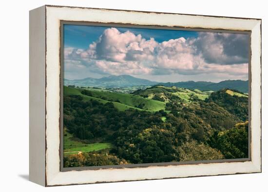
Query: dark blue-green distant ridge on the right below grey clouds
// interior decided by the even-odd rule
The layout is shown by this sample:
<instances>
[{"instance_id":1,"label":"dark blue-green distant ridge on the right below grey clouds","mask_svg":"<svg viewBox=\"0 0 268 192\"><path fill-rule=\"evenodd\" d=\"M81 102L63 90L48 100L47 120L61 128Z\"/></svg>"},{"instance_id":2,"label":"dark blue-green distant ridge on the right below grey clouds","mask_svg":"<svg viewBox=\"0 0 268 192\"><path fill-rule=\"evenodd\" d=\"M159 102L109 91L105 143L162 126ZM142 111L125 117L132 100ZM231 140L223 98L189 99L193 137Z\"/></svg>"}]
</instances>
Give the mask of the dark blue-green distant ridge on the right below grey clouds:
<instances>
[{"instance_id":1,"label":"dark blue-green distant ridge on the right below grey clouds","mask_svg":"<svg viewBox=\"0 0 268 192\"><path fill-rule=\"evenodd\" d=\"M187 81L178 83L159 83L158 85L176 86L188 89L199 89L201 91L206 90L218 91L223 88L229 88L239 90L243 93L249 92L249 81L242 81L242 80L227 80L219 83L204 82L204 81L199 82Z\"/></svg>"}]
</instances>

